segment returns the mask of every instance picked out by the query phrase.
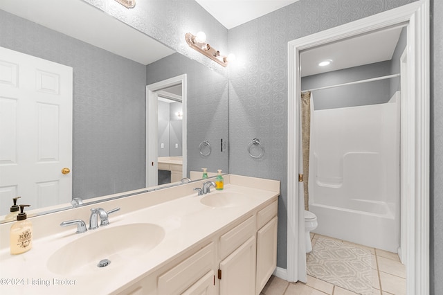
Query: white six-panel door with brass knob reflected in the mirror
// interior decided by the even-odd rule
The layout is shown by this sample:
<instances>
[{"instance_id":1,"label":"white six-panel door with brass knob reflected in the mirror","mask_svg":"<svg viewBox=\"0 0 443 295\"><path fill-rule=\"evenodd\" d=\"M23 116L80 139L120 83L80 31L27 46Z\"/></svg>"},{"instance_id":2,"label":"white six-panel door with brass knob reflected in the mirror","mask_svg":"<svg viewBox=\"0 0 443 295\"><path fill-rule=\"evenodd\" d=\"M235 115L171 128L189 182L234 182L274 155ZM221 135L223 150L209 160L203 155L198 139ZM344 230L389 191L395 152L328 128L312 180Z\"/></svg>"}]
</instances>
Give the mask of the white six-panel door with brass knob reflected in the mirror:
<instances>
[{"instance_id":1,"label":"white six-panel door with brass knob reflected in the mirror","mask_svg":"<svg viewBox=\"0 0 443 295\"><path fill-rule=\"evenodd\" d=\"M73 71L0 47L0 215L71 201Z\"/></svg>"}]
</instances>

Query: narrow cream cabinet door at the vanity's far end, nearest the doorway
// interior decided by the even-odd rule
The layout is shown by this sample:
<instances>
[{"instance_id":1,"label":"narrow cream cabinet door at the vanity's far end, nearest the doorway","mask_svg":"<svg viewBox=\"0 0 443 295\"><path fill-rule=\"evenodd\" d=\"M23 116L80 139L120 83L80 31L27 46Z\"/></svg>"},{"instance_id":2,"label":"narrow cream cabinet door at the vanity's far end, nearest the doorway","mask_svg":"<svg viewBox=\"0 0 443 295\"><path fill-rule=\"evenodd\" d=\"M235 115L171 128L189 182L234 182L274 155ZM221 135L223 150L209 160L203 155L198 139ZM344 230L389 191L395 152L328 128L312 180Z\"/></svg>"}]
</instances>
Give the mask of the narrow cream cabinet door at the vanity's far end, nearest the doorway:
<instances>
[{"instance_id":1,"label":"narrow cream cabinet door at the vanity's far end, nearest the doorway","mask_svg":"<svg viewBox=\"0 0 443 295\"><path fill-rule=\"evenodd\" d=\"M257 287L260 294L277 267L277 217L257 231Z\"/></svg>"}]
</instances>

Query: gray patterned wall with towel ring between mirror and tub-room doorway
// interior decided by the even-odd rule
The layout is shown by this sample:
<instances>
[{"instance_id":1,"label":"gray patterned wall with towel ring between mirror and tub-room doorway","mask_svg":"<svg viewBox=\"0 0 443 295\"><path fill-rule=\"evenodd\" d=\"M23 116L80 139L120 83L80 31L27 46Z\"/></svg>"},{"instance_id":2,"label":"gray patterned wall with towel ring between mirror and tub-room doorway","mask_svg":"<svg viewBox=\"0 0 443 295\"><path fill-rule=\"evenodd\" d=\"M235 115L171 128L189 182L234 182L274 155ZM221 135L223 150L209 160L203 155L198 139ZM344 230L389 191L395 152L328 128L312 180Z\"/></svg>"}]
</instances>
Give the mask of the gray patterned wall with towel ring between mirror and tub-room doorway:
<instances>
[{"instance_id":1,"label":"gray patterned wall with towel ring between mirror and tub-room doorway","mask_svg":"<svg viewBox=\"0 0 443 295\"><path fill-rule=\"evenodd\" d=\"M278 179L278 266L287 257L287 42L389 10L412 0L300 0L229 30L229 171ZM262 159L246 147L260 138ZM297 181L293 179L293 181Z\"/></svg>"}]
</instances>

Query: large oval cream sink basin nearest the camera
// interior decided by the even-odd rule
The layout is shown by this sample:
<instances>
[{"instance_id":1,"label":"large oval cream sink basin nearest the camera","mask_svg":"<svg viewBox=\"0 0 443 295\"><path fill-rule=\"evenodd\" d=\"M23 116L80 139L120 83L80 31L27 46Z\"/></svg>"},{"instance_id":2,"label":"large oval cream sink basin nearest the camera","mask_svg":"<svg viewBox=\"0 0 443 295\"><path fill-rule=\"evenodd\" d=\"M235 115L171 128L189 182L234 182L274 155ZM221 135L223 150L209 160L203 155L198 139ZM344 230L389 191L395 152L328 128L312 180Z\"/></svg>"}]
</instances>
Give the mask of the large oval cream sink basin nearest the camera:
<instances>
[{"instance_id":1,"label":"large oval cream sink basin nearest the camera","mask_svg":"<svg viewBox=\"0 0 443 295\"><path fill-rule=\"evenodd\" d=\"M125 263L137 260L138 256L160 244L165 231L156 224L137 223L108 229L100 227L82 235L51 255L48 259L50 271L60 275L89 274L115 267L122 271ZM101 260L109 261L109 266L99 268Z\"/></svg>"}]
</instances>

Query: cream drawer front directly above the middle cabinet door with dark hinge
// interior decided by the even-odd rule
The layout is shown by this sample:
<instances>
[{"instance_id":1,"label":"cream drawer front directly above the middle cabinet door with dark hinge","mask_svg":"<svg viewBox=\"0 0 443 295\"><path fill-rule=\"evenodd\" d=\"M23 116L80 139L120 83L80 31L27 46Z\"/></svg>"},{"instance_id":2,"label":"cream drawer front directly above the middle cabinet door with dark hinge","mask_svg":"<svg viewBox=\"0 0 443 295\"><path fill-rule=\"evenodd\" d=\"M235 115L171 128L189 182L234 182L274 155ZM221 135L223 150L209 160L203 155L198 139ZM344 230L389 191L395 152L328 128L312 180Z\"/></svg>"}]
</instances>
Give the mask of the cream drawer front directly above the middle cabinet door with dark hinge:
<instances>
[{"instance_id":1,"label":"cream drawer front directly above the middle cabinet door with dark hinge","mask_svg":"<svg viewBox=\"0 0 443 295\"><path fill-rule=\"evenodd\" d=\"M220 258L223 259L255 235L255 216L249 217L220 237Z\"/></svg>"}]
</instances>

